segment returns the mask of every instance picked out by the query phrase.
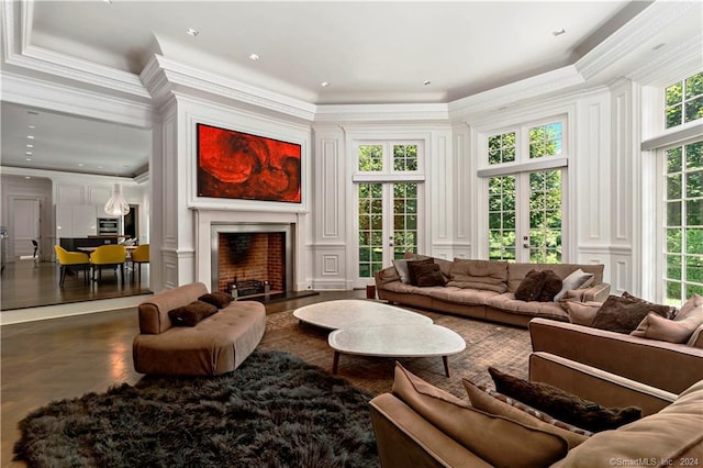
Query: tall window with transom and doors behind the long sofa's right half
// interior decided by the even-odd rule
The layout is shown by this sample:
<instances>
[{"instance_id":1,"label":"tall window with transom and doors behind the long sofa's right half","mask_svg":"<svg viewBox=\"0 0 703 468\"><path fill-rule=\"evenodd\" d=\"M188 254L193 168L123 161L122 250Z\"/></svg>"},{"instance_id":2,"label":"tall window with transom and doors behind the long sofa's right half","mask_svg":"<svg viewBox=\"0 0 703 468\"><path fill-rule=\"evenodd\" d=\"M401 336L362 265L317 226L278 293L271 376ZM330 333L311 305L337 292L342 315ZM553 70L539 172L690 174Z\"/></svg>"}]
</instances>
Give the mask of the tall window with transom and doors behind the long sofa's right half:
<instances>
[{"instance_id":1,"label":"tall window with transom and doors behind the long sofa's right half","mask_svg":"<svg viewBox=\"0 0 703 468\"><path fill-rule=\"evenodd\" d=\"M479 176L489 176L490 259L561 261L562 166L566 163L555 159L554 168L537 170L533 161L563 156L563 143L562 121L526 125L488 137L488 169L479 170Z\"/></svg>"}]
</instances>

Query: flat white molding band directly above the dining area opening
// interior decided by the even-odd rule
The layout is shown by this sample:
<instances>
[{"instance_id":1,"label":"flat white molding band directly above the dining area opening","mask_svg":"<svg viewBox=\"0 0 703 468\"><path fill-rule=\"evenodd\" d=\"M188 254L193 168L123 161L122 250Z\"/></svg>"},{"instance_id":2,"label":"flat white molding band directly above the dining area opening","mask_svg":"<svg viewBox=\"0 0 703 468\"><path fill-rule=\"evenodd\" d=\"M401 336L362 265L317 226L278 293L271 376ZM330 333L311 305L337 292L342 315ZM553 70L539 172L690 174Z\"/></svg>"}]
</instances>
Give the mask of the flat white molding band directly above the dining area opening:
<instances>
[{"instance_id":1,"label":"flat white molding band directly above the dining area opening","mask_svg":"<svg viewBox=\"0 0 703 468\"><path fill-rule=\"evenodd\" d=\"M2 101L49 111L80 114L87 118L150 127L152 104L120 99L101 92L0 71Z\"/></svg>"}]
</instances>

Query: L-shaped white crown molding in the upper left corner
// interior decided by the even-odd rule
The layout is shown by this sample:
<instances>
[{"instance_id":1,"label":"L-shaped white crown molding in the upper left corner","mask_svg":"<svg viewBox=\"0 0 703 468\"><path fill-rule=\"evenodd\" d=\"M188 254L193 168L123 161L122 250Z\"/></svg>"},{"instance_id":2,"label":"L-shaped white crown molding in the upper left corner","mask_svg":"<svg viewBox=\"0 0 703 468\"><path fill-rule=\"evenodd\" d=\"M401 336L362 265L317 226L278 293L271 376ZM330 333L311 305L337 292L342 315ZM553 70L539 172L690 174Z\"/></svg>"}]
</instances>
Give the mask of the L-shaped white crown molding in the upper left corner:
<instances>
[{"instance_id":1,"label":"L-shaped white crown molding in the upper left corner","mask_svg":"<svg viewBox=\"0 0 703 468\"><path fill-rule=\"evenodd\" d=\"M150 99L134 74L30 45L32 2L3 1L2 10L5 64Z\"/></svg>"}]
</instances>

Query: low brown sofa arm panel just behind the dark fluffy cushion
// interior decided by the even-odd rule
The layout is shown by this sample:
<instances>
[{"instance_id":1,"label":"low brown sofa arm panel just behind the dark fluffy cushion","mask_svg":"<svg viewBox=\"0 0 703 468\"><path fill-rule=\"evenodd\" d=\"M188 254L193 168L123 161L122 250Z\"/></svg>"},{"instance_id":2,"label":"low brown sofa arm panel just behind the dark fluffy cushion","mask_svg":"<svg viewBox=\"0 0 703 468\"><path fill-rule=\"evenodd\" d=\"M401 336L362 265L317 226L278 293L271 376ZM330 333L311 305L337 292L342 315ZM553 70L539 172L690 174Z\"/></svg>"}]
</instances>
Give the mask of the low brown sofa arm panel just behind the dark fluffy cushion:
<instances>
[{"instance_id":1,"label":"low brown sofa arm panel just behind the dark fluffy cushion","mask_svg":"<svg viewBox=\"0 0 703 468\"><path fill-rule=\"evenodd\" d=\"M639 406L657 413L677 394L549 353L529 355L529 380L558 387L604 406Z\"/></svg>"}]
</instances>

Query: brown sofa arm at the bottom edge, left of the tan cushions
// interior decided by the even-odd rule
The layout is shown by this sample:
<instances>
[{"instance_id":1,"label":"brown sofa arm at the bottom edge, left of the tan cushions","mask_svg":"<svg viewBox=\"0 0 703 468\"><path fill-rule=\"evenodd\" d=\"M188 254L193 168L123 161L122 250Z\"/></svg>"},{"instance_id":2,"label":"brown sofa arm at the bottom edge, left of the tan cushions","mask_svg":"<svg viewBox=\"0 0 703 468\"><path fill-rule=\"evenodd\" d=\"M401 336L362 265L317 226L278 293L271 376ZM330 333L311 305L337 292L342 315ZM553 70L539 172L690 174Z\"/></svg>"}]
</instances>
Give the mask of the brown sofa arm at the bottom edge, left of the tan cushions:
<instances>
[{"instance_id":1,"label":"brown sofa arm at the bottom edge, left of the tan cushions","mask_svg":"<svg viewBox=\"0 0 703 468\"><path fill-rule=\"evenodd\" d=\"M391 393L369 402L383 468L490 467Z\"/></svg>"}]
</instances>

